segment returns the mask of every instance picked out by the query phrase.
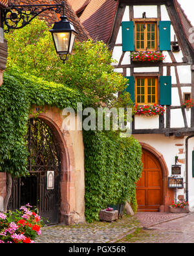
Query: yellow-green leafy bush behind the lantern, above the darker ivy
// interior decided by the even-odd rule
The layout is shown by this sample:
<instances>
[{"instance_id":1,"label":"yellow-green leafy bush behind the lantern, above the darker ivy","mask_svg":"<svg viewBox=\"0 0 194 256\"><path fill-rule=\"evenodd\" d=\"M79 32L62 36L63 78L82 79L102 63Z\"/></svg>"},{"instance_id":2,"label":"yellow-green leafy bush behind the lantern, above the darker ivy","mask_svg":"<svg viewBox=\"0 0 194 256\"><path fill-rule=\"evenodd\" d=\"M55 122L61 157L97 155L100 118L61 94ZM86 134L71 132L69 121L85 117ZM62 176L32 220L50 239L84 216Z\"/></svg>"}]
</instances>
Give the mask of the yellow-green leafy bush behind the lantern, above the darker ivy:
<instances>
[{"instance_id":1,"label":"yellow-green leafy bush behind the lantern, above the darker ivy","mask_svg":"<svg viewBox=\"0 0 194 256\"><path fill-rule=\"evenodd\" d=\"M90 97L92 106L111 107L132 105L129 93L124 91L127 80L114 72L113 59L102 41L76 42L74 53L63 64L56 55L52 36L43 20L34 19L23 29L14 30L8 40L7 69L17 67L45 80L80 89Z\"/></svg>"}]
</instances>

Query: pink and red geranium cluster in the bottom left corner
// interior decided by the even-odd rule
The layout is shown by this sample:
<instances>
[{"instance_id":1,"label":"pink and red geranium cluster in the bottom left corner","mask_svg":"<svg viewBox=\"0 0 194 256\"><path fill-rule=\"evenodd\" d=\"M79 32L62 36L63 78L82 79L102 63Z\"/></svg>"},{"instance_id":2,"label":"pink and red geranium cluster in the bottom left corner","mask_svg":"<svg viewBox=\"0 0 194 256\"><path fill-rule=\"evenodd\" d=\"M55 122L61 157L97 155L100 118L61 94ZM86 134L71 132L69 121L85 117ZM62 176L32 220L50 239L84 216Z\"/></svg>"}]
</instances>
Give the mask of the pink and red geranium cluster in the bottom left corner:
<instances>
[{"instance_id":1,"label":"pink and red geranium cluster in the bottom left corner","mask_svg":"<svg viewBox=\"0 0 194 256\"><path fill-rule=\"evenodd\" d=\"M0 243L33 243L41 235L43 220L30 207L27 204L20 211L0 213Z\"/></svg>"}]
</instances>

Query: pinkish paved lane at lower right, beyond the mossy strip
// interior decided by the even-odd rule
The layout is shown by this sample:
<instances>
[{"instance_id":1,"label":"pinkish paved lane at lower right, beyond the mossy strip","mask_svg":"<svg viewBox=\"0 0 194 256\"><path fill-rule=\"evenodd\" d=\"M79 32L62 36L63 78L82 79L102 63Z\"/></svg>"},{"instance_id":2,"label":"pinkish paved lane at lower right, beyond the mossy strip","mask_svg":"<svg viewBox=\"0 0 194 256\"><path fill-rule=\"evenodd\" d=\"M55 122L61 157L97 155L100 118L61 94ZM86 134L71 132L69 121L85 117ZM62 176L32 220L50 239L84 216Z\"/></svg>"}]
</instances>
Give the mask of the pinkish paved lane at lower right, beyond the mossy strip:
<instances>
[{"instance_id":1,"label":"pinkish paved lane at lower right, beyond the mossy strip","mask_svg":"<svg viewBox=\"0 0 194 256\"><path fill-rule=\"evenodd\" d=\"M140 229L120 243L194 243L194 213L176 218L169 222L156 224L155 226Z\"/></svg>"}]
</instances>

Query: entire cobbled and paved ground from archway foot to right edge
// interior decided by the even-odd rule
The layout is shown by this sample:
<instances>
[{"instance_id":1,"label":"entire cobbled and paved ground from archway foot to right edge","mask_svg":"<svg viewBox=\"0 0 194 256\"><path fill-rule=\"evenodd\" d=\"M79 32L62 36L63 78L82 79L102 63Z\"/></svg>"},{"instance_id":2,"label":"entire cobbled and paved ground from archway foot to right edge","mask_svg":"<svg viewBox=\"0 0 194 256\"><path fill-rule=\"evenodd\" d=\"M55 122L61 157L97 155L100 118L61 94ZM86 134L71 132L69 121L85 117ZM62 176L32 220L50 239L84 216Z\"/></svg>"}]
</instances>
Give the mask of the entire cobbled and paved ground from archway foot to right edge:
<instances>
[{"instance_id":1,"label":"entire cobbled and paved ground from archway foot to right edge","mask_svg":"<svg viewBox=\"0 0 194 256\"><path fill-rule=\"evenodd\" d=\"M162 223L162 224L160 224ZM185 223L187 228L185 228ZM47 226L36 243L106 243L106 242L194 242L194 214L137 213L116 222L94 222L71 226ZM143 227L143 229L142 229ZM187 236L189 241L187 240ZM125 239L124 239L125 237Z\"/></svg>"}]
</instances>

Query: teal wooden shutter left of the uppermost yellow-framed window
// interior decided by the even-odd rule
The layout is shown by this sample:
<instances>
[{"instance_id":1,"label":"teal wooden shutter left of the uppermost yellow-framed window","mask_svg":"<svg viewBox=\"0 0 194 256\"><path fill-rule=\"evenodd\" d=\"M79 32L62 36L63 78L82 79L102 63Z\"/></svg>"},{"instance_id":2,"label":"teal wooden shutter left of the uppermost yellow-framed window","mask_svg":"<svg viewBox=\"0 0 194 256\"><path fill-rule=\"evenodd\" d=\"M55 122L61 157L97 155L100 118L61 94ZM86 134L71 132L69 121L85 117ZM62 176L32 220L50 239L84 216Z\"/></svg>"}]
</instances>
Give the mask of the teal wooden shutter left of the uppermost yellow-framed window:
<instances>
[{"instance_id":1,"label":"teal wooden shutter left of the uppermost yellow-framed window","mask_svg":"<svg viewBox=\"0 0 194 256\"><path fill-rule=\"evenodd\" d=\"M123 51L134 51L134 22L122 21Z\"/></svg>"}]
</instances>

